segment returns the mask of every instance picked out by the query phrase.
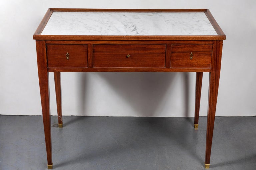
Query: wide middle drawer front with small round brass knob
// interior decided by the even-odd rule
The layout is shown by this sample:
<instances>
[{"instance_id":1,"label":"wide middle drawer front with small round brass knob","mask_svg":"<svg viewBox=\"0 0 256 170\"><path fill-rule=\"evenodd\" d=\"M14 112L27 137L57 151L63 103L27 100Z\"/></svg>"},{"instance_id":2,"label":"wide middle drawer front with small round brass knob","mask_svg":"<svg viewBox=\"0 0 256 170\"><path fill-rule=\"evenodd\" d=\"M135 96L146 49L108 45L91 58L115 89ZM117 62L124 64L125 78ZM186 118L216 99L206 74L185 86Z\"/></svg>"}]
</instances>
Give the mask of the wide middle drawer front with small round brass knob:
<instances>
[{"instance_id":1,"label":"wide middle drawer front with small round brass knob","mask_svg":"<svg viewBox=\"0 0 256 170\"><path fill-rule=\"evenodd\" d=\"M165 67L165 44L94 44L93 67Z\"/></svg>"}]
</instances>

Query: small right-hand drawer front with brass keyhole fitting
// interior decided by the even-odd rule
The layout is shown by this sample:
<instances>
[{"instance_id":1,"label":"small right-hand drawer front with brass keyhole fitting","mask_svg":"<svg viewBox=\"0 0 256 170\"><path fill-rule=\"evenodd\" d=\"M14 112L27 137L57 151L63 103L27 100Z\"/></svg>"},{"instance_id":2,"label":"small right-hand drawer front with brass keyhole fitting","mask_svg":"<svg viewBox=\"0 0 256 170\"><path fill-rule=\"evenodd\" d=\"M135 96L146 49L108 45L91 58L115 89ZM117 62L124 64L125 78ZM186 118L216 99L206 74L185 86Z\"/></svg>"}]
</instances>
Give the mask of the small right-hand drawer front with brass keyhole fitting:
<instances>
[{"instance_id":1,"label":"small right-hand drawer front with brass keyhole fitting","mask_svg":"<svg viewBox=\"0 0 256 170\"><path fill-rule=\"evenodd\" d=\"M171 67L211 68L212 44L172 44Z\"/></svg>"}]
</instances>

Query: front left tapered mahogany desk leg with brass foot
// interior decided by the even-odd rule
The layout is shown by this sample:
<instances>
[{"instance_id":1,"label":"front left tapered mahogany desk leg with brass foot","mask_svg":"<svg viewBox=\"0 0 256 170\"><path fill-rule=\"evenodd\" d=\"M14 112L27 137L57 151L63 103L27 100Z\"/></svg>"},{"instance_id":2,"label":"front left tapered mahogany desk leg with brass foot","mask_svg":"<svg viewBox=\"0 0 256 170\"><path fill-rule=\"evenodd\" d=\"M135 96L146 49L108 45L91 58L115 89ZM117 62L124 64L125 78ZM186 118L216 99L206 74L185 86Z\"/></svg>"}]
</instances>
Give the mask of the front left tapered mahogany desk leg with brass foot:
<instances>
[{"instance_id":1,"label":"front left tapered mahogany desk leg with brass foot","mask_svg":"<svg viewBox=\"0 0 256 170\"><path fill-rule=\"evenodd\" d=\"M44 135L48 169L52 169L51 115L49 100L49 73L47 72L45 41L36 40L37 66L40 86Z\"/></svg>"}]
</instances>

